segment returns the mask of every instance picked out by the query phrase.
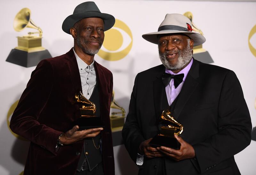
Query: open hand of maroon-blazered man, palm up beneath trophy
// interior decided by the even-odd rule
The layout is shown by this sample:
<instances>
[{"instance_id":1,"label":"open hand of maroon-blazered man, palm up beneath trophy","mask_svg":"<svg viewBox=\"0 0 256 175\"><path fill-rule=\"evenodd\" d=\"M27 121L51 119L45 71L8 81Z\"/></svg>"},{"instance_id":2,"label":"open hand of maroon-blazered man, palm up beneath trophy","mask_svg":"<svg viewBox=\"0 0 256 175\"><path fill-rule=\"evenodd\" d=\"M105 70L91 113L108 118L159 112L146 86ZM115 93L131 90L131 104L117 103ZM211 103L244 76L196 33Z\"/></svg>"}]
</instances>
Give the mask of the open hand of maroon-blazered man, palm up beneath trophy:
<instances>
[{"instance_id":1,"label":"open hand of maroon-blazered man, palm up beneath trophy","mask_svg":"<svg viewBox=\"0 0 256 175\"><path fill-rule=\"evenodd\" d=\"M92 128L88 130L77 131L79 126L75 125L60 137L60 143L64 145L75 143L87 137L96 137L103 128Z\"/></svg>"}]
</instances>

